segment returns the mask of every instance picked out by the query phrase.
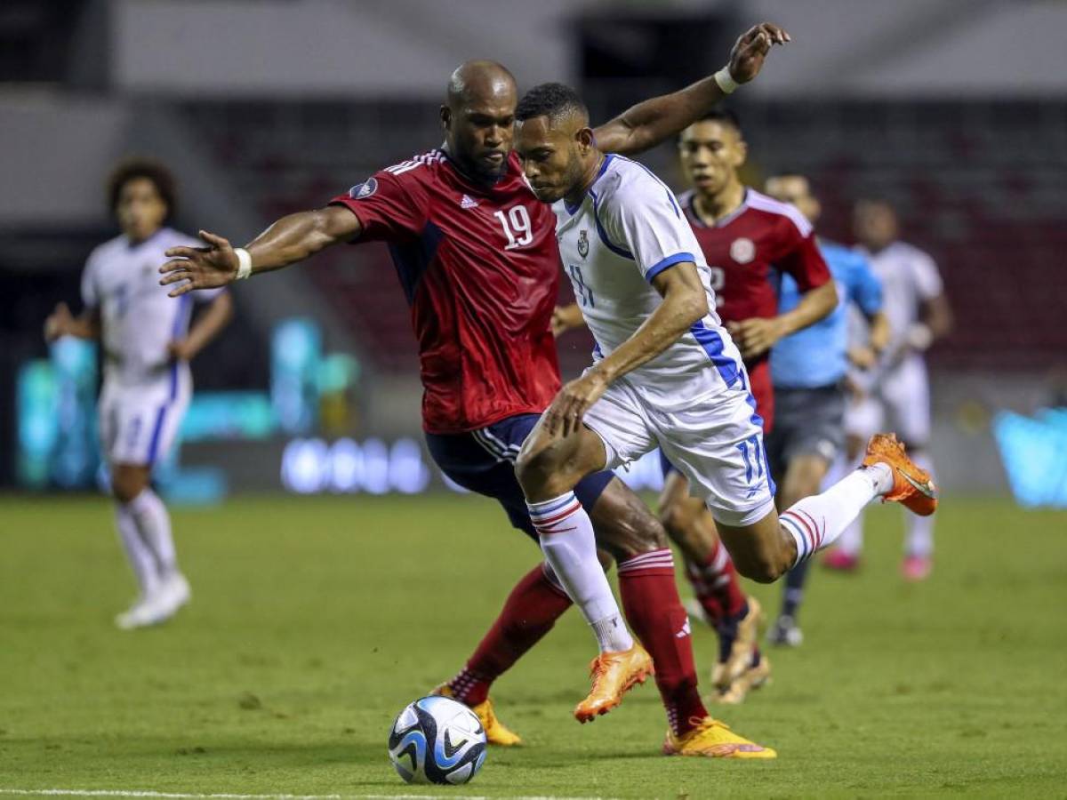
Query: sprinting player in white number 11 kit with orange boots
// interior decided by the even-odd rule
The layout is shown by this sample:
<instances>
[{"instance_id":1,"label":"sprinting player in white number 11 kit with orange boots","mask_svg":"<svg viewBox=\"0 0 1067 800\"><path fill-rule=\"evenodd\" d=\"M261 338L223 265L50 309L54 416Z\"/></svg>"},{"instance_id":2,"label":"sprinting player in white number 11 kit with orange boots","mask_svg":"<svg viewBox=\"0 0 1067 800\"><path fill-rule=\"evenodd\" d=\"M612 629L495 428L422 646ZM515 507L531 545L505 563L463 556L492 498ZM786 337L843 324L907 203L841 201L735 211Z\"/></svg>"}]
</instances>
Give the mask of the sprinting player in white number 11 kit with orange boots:
<instances>
[{"instance_id":1,"label":"sprinting player in white number 11 kit with orange boots","mask_svg":"<svg viewBox=\"0 0 1067 800\"><path fill-rule=\"evenodd\" d=\"M572 490L656 447L707 503L737 570L762 582L833 542L876 497L933 513L928 477L876 435L860 469L779 517L748 377L673 193L641 164L602 154L567 86L530 90L515 119L515 150L556 211L563 269L596 340L593 366L559 391L516 464L543 546L568 550L557 577L579 607L609 590Z\"/></svg>"}]
</instances>

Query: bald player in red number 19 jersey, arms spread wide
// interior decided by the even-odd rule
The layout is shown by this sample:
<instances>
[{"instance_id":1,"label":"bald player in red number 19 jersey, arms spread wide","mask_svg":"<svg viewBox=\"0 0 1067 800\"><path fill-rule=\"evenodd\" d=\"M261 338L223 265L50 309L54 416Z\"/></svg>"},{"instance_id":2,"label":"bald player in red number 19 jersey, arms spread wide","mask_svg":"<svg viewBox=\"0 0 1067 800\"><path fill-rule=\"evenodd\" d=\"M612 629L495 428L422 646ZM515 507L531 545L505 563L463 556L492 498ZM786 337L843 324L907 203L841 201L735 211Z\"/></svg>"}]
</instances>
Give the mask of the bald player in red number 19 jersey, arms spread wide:
<instances>
[{"instance_id":1,"label":"bald player in red number 19 jersey, arms spread wide","mask_svg":"<svg viewBox=\"0 0 1067 800\"><path fill-rule=\"evenodd\" d=\"M605 149L635 153L675 134L720 99L723 86L732 91L735 82L754 77L770 46L786 38L774 26L753 28L716 77L634 107L598 128L599 141ZM559 388L550 331L559 262L554 217L537 202L511 154L516 100L514 79L504 67L468 62L453 73L441 110L444 147L377 173L323 209L283 218L246 247L234 250L202 231L208 246L175 249L169 254L174 260L160 270L169 273L162 283L179 284L172 290L178 295L280 269L339 242L388 241L419 342L431 454L452 480L499 500L512 524L534 535L513 460ZM575 493L592 510L598 543L620 566L631 567L620 576L627 618L655 657L672 730L685 733L707 715L685 611L672 570L663 564L660 554L670 553L666 537L610 473L583 484ZM542 546L552 569L539 565L520 581L466 668L445 687L478 711L497 743L517 737L495 720L489 686L571 603L559 587L569 586L559 575L566 561L552 560L543 540ZM602 651L592 691L575 709L585 720L618 705L633 683L650 674L651 662L617 607L592 619L579 605ZM745 752L718 747L686 754Z\"/></svg>"}]
</instances>

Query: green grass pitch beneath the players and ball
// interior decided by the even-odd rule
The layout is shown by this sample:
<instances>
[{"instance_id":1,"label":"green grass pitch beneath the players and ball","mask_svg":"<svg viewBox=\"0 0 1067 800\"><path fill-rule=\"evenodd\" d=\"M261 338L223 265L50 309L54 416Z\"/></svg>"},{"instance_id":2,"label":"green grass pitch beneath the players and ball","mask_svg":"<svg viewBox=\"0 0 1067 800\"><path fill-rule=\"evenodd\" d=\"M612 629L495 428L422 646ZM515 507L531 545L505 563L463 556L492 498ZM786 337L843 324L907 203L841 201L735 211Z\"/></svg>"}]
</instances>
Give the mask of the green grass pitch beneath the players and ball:
<instances>
[{"instance_id":1,"label":"green grass pitch beneath the players and ball","mask_svg":"<svg viewBox=\"0 0 1067 800\"><path fill-rule=\"evenodd\" d=\"M536 560L489 501L246 498L175 513L193 605L120 633L131 594L102 499L0 499L0 790L698 798L1067 791L1067 515L949 498L933 578L898 578L874 509L863 572L817 570L798 651L720 715L777 762L658 755L649 685L571 708L571 611L495 688L527 747L458 789L407 786L394 715L450 676ZM687 591L683 589L683 591ZM773 605L777 587L760 587ZM701 672L714 638L695 625ZM0 800L2 800L0 795Z\"/></svg>"}]
</instances>

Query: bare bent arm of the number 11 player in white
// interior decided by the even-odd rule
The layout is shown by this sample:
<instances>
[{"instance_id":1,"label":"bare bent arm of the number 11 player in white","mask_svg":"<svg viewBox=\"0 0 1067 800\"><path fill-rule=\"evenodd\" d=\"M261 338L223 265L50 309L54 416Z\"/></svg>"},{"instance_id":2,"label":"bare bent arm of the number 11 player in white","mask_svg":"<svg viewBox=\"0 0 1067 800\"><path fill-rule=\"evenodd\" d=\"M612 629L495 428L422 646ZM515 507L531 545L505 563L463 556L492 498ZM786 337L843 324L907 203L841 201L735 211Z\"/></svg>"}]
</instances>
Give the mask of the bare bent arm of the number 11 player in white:
<instances>
[{"instance_id":1,"label":"bare bent arm of the number 11 player in white","mask_svg":"<svg viewBox=\"0 0 1067 800\"><path fill-rule=\"evenodd\" d=\"M576 431L589 406L611 383L663 353L707 314L707 293L692 261L664 270L652 278L652 286L664 302L610 355L559 390L544 413L548 433L567 436Z\"/></svg>"}]
</instances>

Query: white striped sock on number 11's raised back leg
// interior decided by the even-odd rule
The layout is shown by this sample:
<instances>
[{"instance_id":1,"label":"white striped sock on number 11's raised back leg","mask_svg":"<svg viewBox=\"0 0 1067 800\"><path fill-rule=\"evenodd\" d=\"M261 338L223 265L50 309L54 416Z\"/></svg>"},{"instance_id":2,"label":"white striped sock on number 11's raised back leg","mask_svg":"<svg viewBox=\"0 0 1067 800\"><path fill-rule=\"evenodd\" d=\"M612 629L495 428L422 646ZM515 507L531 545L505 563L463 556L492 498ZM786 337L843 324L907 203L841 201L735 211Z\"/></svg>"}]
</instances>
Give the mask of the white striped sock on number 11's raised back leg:
<instances>
[{"instance_id":1,"label":"white striped sock on number 11's raised back leg","mask_svg":"<svg viewBox=\"0 0 1067 800\"><path fill-rule=\"evenodd\" d=\"M797 545L796 566L813 553L837 541L860 511L893 487L893 473L886 464L861 467L823 494L805 497L779 515Z\"/></svg>"}]
</instances>

